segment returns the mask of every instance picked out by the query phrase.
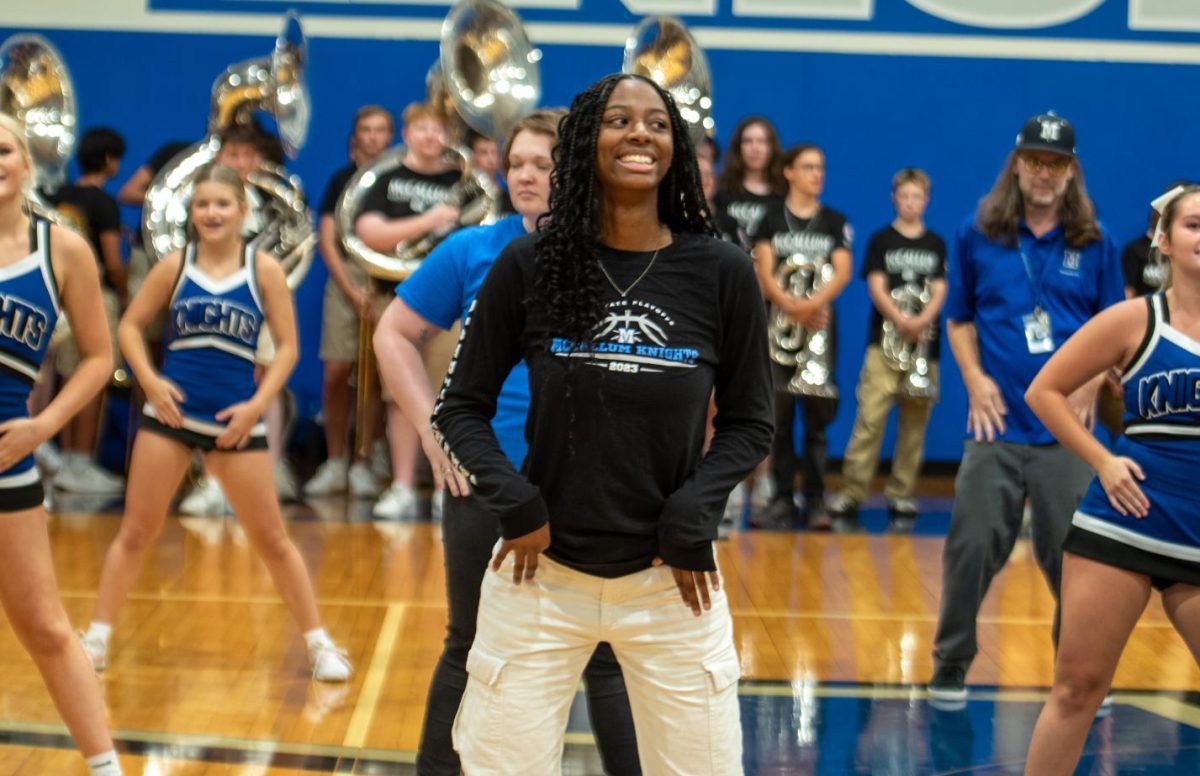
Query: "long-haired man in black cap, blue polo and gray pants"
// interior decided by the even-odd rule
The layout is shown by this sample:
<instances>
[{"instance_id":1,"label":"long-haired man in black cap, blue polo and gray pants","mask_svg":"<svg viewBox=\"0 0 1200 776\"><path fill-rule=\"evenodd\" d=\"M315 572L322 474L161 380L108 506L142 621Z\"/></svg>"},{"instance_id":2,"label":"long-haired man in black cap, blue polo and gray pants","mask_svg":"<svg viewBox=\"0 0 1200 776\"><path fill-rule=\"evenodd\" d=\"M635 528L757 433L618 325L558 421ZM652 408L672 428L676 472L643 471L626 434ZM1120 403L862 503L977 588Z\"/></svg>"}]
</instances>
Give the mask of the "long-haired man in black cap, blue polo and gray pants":
<instances>
[{"instance_id":1,"label":"long-haired man in black cap, blue polo and gray pants","mask_svg":"<svg viewBox=\"0 0 1200 776\"><path fill-rule=\"evenodd\" d=\"M1026 499L1034 554L1058 597L1062 542L1092 473L1055 441L1025 390L1075 330L1124 297L1122 283L1116 248L1084 187L1074 128L1052 113L1030 119L959 230L950 263L947 335L970 408L942 553L935 700L967 697L976 618L1013 552ZM1088 426L1099 383L1072 397ZM1055 622L1057 636L1057 615Z\"/></svg>"}]
</instances>

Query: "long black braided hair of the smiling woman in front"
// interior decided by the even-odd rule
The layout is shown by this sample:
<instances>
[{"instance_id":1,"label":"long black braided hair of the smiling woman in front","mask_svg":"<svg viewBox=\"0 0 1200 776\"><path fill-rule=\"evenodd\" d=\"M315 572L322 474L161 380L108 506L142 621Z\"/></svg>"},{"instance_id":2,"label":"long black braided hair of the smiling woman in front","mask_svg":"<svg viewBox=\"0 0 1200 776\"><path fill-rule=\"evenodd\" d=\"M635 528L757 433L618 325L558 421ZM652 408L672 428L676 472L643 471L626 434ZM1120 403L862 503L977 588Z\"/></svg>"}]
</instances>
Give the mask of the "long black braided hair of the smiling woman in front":
<instances>
[{"instance_id":1,"label":"long black braided hair of the smiling woman in front","mask_svg":"<svg viewBox=\"0 0 1200 776\"><path fill-rule=\"evenodd\" d=\"M700 182L696 150L671 95L653 80L628 73L606 76L580 92L558 128L550 210L539 222L534 289L534 302L546 315L550 335L577 344L590 342L604 318L596 138L608 96L626 78L650 84L671 118L674 152L659 184L659 219L672 233L716 234Z\"/></svg>"}]
</instances>

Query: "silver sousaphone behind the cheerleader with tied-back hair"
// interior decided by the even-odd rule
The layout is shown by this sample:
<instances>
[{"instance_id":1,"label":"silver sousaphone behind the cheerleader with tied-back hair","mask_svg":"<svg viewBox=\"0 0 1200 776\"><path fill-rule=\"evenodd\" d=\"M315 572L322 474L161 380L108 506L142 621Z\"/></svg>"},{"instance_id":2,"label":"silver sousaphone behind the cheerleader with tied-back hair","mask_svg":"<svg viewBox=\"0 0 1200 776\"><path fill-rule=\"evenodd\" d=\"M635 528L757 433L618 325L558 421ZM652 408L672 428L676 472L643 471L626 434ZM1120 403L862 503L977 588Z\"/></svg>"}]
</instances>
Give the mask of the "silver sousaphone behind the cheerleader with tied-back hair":
<instances>
[{"instance_id":1,"label":"silver sousaphone behind the cheerleader with tied-back hair","mask_svg":"<svg viewBox=\"0 0 1200 776\"><path fill-rule=\"evenodd\" d=\"M300 18L289 12L271 54L230 65L217 78L208 136L175 156L146 190L142 233L152 259L184 247L196 175L216 160L221 132L250 122L254 110L268 110L275 116L288 156L294 157L304 146L311 106L305 82L307 58ZM278 164L264 162L251 173L248 182L266 195L266 227L253 245L275 255L287 272L288 285L296 288L308 272L317 243L300 179Z\"/></svg>"}]
</instances>

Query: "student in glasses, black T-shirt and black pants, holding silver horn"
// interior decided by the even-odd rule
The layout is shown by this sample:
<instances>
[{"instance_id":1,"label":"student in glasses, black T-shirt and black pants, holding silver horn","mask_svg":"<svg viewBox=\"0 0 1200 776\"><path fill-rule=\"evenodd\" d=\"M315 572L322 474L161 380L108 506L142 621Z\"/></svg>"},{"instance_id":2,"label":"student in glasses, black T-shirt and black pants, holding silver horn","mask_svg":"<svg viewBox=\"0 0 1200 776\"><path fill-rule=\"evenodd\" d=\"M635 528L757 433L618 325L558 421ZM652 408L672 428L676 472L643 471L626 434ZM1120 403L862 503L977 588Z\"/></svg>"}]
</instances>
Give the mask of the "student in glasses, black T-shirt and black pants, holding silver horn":
<instances>
[{"instance_id":1,"label":"student in glasses, black T-shirt and black pants, holding silver horn","mask_svg":"<svg viewBox=\"0 0 1200 776\"><path fill-rule=\"evenodd\" d=\"M838 359L836 321L833 301L850 282L852 231L846 217L821 204L824 190L824 151L818 146L797 145L784 154L784 175L787 198L774 203L754 235L754 255L758 282L767 301L772 303L772 321L781 311L793 325L808 332L824 332L824 366L827 372L805 386L805 393L790 390L792 378L799 374L794 361L799 351L781 349L773 357L787 360L772 365L775 377L775 441L772 445L772 480L774 500L755 522L763 527L791 527L797 513L793 501L796 489L796 443L793 423L799 398L804 413L804 451L800 456L804 477L804 523L810 528L828 529L829 515L824 505L824 475L827 464L826 428L838 414L838 386L834 371ZM778 273L793 257L805 257L810 272L830 265L833 273L820 290L796 294L780 285ZM815 285L814 285L815 289ZM814 349L815 350L815 349ZM806 374L806 373L805 373Z\"/></svg>"}]
</instances>

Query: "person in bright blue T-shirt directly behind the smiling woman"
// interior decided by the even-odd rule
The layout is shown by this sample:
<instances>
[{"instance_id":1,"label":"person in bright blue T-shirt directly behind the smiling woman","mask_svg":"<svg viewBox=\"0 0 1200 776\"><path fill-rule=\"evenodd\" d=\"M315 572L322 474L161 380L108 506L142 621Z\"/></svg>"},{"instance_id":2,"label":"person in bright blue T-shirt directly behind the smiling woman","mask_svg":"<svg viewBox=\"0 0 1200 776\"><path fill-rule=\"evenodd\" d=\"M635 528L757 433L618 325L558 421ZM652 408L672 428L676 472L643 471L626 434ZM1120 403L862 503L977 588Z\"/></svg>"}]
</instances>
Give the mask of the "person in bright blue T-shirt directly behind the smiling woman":
<instances>
[{"instance_id":1,"label":"person in bright blue T-shirt directly behind the smiling woman","mask_svg":"<svg viewBox=\"0 0 1200 776\"><path fill-rule=\"evenodd\" d=\"M504 170L516 215L487 227L460 229L421 263L396 290L374 335L379 374L396 405L412 419L430 459L437 488L449 489L442 524L450 621L445 646L433 673L416 770L421 776L461 770L451 728L467 687L467 655L475 640L475 619L484 575L500 536L497 517L472 494L433 438L430 417L434 396L420 348L460 318L467 319L492 263L514 239L536 229L547 211L553 146L564 112L541 110L522 119L504 146ZM451 365L451 372L454 366ZM529 371L517 363L497 399L492 428L504 455L521 467L529 409ZM624 678L612 649L601 644L588 669L592 724L605 772L641 772L634 720Z\"/></svg>"}]
</instances>

